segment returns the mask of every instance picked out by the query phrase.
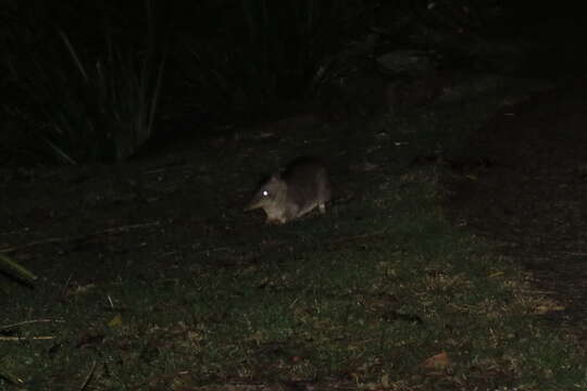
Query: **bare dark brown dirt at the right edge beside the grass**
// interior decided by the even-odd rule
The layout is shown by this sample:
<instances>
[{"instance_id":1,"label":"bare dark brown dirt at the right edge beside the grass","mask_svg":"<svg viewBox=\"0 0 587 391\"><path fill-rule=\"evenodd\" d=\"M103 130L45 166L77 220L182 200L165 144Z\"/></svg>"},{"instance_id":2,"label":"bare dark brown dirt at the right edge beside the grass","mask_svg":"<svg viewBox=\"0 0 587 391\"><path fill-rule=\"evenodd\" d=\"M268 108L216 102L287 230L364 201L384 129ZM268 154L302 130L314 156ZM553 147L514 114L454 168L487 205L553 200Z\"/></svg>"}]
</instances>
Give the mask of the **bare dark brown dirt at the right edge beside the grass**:
<instances>
[{"instance_id":1,"label":"bare dark brown dirt at the right edge beside the grass","mask_svg":"<svg viewBox=\"0 0 587 391\"><path fill-rule=\"evenodd\" d=\"M447 207L527 267L561 303L555 327L587 342L585 87L565 84L497 114L471 140L484 167L449 181Z\"/></svg>"}]
</instances>

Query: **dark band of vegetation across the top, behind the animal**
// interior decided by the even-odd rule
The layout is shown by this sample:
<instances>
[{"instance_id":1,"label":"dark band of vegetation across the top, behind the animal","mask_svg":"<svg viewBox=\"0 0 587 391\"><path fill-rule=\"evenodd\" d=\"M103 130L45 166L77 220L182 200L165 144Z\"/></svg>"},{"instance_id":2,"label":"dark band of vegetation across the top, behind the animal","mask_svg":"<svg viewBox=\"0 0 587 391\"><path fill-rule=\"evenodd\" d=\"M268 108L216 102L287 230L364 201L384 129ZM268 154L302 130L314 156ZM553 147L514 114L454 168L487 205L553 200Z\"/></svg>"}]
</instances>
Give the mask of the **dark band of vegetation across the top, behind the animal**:
<instances>
[{"instance_id":1,"label":"dark band of vegetation across the top, behind the animal","mask_svg":"<svg viewBox=\"0 0 587 391\"><path fill-rule=\"evenodd\" d=\"M495 1L434 12L409 1L4 3L2 115L18 150L3 152L28 165L39 152L124 161L155 128L201 137L329 102L375 77L390 50L476 66L480 36L505 16Z\"/></svg>"}]
</instances>

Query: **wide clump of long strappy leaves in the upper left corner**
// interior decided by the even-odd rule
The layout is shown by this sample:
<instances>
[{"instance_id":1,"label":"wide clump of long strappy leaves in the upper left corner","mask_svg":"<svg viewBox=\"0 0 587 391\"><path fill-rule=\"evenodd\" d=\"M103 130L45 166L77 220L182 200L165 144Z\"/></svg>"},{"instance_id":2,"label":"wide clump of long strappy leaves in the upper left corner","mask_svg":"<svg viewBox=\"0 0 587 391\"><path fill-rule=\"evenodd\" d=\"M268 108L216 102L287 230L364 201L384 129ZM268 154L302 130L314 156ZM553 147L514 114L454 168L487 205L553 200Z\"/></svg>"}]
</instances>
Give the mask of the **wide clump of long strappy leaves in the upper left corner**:
<instances>
[{"instance_id":1,"label":"wide clump of long strappy leaves in the upper left corner","mask_svg":"<svg viewBox=\"0 0 587 391\"><path fill-rule=\"evenodd\" d=\"M142 43L125 40L107 12L95 36L87 29L97 26L72 24L67 26L73 33L51 23L41 23L37 33L22 14L15 14L20 18L7 29L9 86L22 98L4 111L17 116L59 161L124 160L151 136L163 61L151 1L145 3ZM24 48L26 40L30 45Z\"/></svg>"}]
</instances>

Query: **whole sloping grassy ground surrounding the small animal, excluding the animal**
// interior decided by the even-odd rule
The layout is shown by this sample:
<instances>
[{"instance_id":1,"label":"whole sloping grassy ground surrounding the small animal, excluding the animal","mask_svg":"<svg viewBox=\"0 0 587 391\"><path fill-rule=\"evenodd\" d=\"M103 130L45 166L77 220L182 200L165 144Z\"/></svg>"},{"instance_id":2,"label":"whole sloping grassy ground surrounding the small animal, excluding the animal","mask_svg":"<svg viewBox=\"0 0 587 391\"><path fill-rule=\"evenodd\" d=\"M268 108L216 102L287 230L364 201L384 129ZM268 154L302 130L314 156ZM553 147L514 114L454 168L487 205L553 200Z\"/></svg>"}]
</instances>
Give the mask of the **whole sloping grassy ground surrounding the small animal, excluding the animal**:
<instances>
[{"instance_id":1,"label":"whole sloping grassy ground surrounding the small animal, excluding the animal","mask_svg":"<svg viewBox=\"0 0 587 391\"><path fill-rule=\"evenodd\" d=\"M179 168L157 178L138 162L128 175L147 178L143 204L88 201L117 186L97 176L95 190L68 193L72 210L57 211L61 224L45 232L145 228L13 252L45 279L34 290L4 281L0 366L28 390L587 389L584 352L542 320L557 303L445 217L440 179L458 174L421 164L474 156L469 133L509 93L296 133L247 130L220 149L182 152ZM264 226L241 212L260 174L302 153L332 162L339 197L325 216ZM15 188L4 192L24 194ZM32 225L37 215L10 200L7 231ZM7 327L26 320L38 321Z\"/></svg>"}]
</instances>

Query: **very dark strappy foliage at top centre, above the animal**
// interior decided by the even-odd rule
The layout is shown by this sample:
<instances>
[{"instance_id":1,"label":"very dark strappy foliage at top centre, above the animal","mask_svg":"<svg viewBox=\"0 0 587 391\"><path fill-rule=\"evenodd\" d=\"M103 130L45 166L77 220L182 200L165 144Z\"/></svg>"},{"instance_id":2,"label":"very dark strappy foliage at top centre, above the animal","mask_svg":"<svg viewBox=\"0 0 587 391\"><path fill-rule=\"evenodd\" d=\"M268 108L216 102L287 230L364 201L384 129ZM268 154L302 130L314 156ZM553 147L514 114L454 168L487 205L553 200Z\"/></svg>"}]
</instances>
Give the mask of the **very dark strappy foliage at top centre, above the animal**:
<instances>
[{"instance_id":1,"label":"very dark strappy foliage at top centre, above the animal","mask_svg":"<svg viewBox=\"0 0 587 391\"><path fill-rule=\"evenodd\" d=\"M180 73L212 114L252 113L303 97L321 60L340 49L374 1L240 0L239 7L202 2L205 22L191 30Z\"/></svg>"}]
</instances>

